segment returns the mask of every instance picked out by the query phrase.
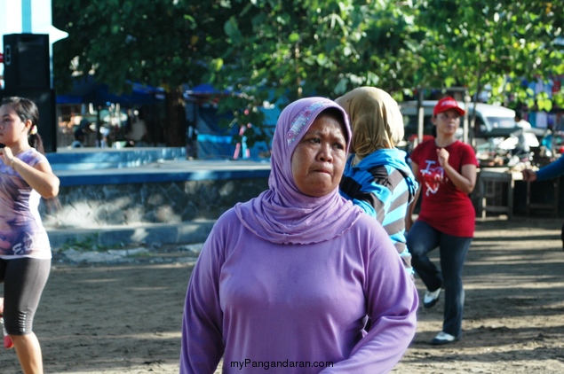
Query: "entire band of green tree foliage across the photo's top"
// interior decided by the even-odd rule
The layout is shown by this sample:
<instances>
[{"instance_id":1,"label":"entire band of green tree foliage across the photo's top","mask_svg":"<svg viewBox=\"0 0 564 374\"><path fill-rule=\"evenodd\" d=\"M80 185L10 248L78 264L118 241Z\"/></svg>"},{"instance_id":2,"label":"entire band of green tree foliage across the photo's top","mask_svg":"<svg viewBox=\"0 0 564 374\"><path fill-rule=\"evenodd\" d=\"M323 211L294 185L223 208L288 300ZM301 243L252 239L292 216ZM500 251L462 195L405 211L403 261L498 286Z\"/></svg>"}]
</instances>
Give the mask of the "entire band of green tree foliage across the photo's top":
<instances>
[{"instance_id":1,"label":"entire band of green tree foliage across the photo's top","mask_svg":"<svg viewBox=\"0 0 564 374\"><path fill-rule=\"evenodd\" d=\"M233 97L226 126L252 123L263 103L338 97L361 85L401 100L417 88L488 88L490 101L547 109L519 79L564 74L561 2L485 0L52 0L69 33L53 47L58 85L95 71L99 82L211 82ZM512 101L510 101L512 100ZM237 139L238 140L238 139Z\"/></svg>"}]
</instances>

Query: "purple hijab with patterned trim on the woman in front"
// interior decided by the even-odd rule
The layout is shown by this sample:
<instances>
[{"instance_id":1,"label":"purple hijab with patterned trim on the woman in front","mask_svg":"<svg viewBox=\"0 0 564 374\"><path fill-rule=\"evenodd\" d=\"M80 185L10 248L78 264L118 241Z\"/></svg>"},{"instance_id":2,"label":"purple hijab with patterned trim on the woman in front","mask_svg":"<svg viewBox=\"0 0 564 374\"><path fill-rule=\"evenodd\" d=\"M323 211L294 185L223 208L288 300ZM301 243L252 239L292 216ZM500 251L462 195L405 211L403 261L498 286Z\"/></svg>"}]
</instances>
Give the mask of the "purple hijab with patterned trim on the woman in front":
<instances>
[{"instance_id":1,"label":"purple hijab with patterned trim on the woman in front","mask_svg":"<svg viewBox=\"0 0 564 374\"><path fill-rule=\"evenodd\" d=\"M346 124L346 146L351 129L345 111L323 97L301 98L286 106L274 131L269 189L257 198L234 206L242 224L272 243L311 244L342 235L358 220L361 209L341 198L338 188L321 198L298 190L291 171L291 158L315 118L336 108Z\"/></svg>"}]
</instances>

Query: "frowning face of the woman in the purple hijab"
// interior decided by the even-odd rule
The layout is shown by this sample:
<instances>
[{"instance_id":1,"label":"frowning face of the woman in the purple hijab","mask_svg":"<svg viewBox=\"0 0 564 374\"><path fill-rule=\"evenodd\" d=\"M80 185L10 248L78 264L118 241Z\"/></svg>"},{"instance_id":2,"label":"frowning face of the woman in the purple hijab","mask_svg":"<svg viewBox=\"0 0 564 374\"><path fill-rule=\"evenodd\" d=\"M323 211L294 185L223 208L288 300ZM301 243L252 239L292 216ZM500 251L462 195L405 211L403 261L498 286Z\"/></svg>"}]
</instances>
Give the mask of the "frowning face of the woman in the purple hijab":
<instances>
[{"instance_id":1,"label":"frowning face of the woman in the purple hijab","mask_svg":"<svg viewBox=\"0 0 564 374\"><path fill-rule=\"evenodd\" d=\"M341 123L320 114L292 155L292 175L299 191L321 198L338 188L346 163L346 137Z\"/></svg>"}]
</instances>

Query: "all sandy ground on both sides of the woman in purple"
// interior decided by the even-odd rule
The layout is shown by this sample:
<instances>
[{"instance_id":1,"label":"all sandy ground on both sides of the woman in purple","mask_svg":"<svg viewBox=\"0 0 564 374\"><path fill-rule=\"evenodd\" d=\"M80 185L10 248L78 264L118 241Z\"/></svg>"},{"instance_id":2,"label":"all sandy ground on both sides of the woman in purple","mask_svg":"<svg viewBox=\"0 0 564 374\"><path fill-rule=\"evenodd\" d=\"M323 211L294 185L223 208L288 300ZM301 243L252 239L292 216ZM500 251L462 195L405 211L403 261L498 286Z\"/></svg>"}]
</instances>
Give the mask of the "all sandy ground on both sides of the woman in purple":
<instances>
[{"instance_id":1,"label":"all sandy ground on both sides of the woman in purple","mask_svg":"<svg viewBox=\"0 0 564 374\"><path fill-rule=\"evenodd\" d=\"M477 222L465 265L463 339L430 346L441 330L442 299L421 308L416 338L393 372L564 372L561 222ZM34 328L45 372L178 373L193 256L179 246L110 263L77 264L57 254ZM418 279L417 288L422 295ZM0 347L0 372L20 373L13 350Z\"/></svg>"}]
</instances>

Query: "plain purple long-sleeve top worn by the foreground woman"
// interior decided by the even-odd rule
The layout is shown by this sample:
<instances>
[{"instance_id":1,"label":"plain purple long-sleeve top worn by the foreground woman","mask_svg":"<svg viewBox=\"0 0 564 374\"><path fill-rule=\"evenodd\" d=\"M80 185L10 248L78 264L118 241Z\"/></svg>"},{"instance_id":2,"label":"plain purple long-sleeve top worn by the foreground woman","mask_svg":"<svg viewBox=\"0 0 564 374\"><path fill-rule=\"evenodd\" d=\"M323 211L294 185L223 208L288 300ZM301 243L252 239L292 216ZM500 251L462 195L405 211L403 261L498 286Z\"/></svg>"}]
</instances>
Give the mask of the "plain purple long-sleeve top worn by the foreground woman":
<instances>
[{"instance_id":1,"label":"plain purple long-sleeve top worn by the foreground woman","mask_svg":"<svg viewBox=\"0 0 564 374\"><path fill-rule=\"evenodd\" d=\"M368 214L338 238L282 245L252 234L231 209L188 285L180 373L213 373L222 355L226 373L387 372L413 339L417 304Z\"/></svg>"}]
</instances>

